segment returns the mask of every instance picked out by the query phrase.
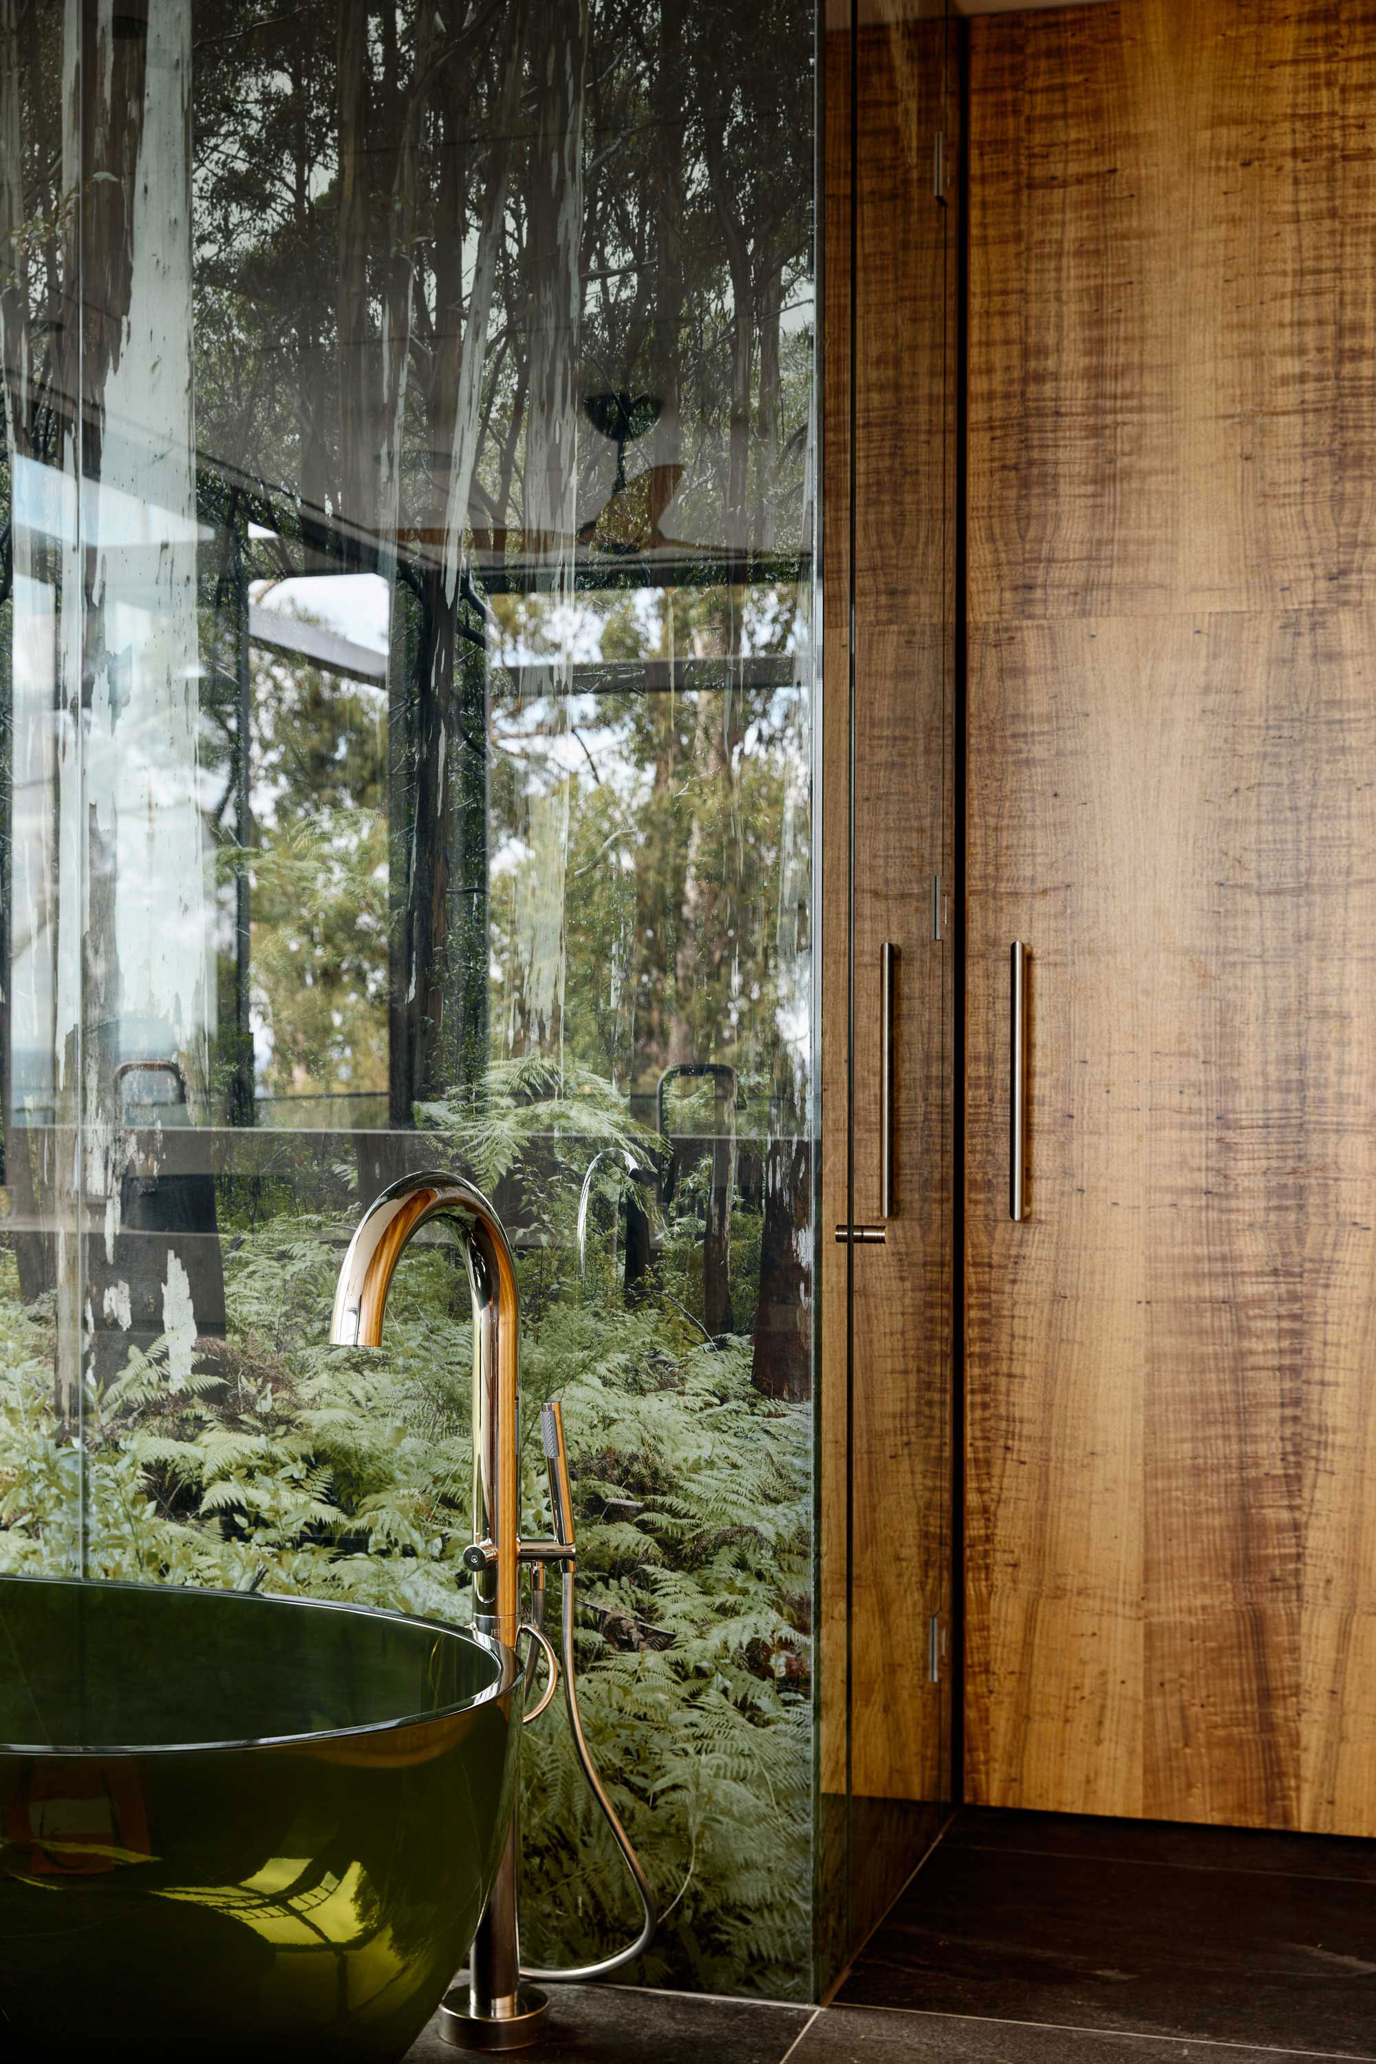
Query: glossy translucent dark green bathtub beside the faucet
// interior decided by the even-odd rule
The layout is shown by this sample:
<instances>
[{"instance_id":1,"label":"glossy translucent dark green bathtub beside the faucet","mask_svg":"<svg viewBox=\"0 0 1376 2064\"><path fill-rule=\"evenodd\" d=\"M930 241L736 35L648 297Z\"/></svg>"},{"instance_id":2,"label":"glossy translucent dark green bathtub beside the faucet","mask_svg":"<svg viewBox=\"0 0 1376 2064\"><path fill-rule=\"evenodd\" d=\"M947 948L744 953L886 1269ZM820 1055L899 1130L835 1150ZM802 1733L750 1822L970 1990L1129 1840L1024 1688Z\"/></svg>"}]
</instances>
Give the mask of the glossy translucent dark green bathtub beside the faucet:
<instances>
[{"instance_id":1,"label":"glossy translucent dark green bathtub beside the faucet","mask_svg":"<svg viewBox=\"0 0 1376 2064\"><path fill-rule=\"evenodd\" d=\"M470 1631L0 1579L0 2050L394 2064L468 1953L518 1736Z\"/></svg>"}]
</instances>

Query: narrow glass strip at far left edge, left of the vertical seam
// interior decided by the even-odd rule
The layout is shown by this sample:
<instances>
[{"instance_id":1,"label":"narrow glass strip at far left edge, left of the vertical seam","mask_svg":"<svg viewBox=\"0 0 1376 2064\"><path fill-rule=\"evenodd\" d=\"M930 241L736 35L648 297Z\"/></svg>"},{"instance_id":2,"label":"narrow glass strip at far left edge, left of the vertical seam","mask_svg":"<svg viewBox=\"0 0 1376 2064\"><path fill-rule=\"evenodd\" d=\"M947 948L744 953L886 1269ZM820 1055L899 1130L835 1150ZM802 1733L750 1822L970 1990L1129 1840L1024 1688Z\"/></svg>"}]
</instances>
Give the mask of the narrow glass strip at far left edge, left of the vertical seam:
<instances>
[{"instance_id":1,"label":"narrow glass strip at far left edge, left of the vertical seam","mask_svg":"<svg viewBox=\"0 0 1376 2064\"><path fill-rule=\"evenodd\" d=\"M62 10L0 8L0 1571L80 1567L76 138Z\"/></svg>"}]
</instances>

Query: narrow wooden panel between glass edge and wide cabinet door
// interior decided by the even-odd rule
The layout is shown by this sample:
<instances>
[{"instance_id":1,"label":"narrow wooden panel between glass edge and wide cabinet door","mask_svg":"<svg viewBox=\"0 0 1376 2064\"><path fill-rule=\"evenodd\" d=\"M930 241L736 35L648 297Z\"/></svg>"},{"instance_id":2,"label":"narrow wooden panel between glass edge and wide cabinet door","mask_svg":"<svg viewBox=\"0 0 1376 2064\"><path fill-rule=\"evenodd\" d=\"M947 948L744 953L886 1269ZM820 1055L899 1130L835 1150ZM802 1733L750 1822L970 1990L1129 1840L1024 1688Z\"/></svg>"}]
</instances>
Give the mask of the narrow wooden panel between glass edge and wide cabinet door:
<instances>
[{"instance_id":1,"label":"narrow wooden panel between glass edge and wide cabinet door","mask_svg":"<svg viewBox=\"0 0 1376 2064\"><path fill-rule=\"evenodd\" d=\"M860 29L856 314L856 1216L879 1216L881 947L897 945L895 1216L856 1251L852 1789L937 1802L928 1618L949 1552L949 1131L943 947L945 19Z\"/></svg>"}]
</instances>

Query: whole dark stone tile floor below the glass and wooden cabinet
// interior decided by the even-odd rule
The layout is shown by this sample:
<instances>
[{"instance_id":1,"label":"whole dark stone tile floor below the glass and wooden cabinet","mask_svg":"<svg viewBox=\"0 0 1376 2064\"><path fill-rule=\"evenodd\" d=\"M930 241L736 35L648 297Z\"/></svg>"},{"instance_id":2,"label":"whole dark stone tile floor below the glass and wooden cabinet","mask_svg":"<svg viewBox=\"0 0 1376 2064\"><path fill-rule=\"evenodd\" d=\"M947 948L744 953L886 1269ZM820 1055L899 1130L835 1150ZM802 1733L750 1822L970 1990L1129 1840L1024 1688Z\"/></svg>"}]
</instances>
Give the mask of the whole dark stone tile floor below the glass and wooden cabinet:
<instances>
[{"instance_id":1,"label":"whole dark stone tile floor below the glass and wooden cabinet","mask_svg":"<svg viewBox=\"0 0 1376 2064\"><path fill-rule=\"evenodd\" d=\"M524 2056L1376 2064L1376 1841L965 1810L823 2012L567 1986Z\"/></svg>"}]
</instances>

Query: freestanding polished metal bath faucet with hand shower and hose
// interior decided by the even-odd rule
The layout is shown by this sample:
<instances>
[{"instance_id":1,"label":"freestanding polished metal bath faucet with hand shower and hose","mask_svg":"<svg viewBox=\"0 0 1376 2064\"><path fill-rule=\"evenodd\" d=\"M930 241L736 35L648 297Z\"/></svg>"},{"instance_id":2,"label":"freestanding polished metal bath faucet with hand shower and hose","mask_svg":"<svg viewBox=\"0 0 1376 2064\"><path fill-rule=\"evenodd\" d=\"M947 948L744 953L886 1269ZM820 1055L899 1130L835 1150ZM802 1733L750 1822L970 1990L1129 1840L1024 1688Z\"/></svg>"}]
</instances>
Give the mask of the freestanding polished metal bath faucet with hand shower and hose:
<instances>
[{"instance_id":1,"label":"freestanding polished metal bath faucet with hand shower and hose","mask_svg":"<svg viewBox=\"0 0 1376 2064\"><path fill-rule=\"evenodd\" d=\"M512 1800L493 1891L472 1938L468 1986L454 1988L439 2008L439 2033L460 2050L524 2050L538 2041L549 2019L547 1996L522 1979L607 1977L631 1963L648 1946L656 1926L650 1880L598 1779L584 1740L574 1682L574 1503L569 1494L563 1414L557 1404L540 1408L540 1441L549 1470L549 1498L555 1519L553 1540L520 1538L520 1298L512 1247L487 1197L458 1174L423 1170L392 1183L359 1220L334 1288L330 1344L336 1348L382 1346L382 1319L396 1265L433 1218L458 1226L468 1290L472 1296L472 1546L464 1567L472 1573L474 1626L514 1649L522 1633L536 1637L549 1655L551 1684L536 1719L555 1688L555 1655L543 1633L543 1610L522 1618L520 1573L532 1567L534 1598L543 1608L545 1569L563 1567L563 1690L574 1748L617 1845L635 1880L644 1922L635 1940L598 1963L567 1971L522 1969L516 1909L520 1860L518 1802ZM534 1659L532 1659L534 1662Z\"/></svg>"}]
</instances>

